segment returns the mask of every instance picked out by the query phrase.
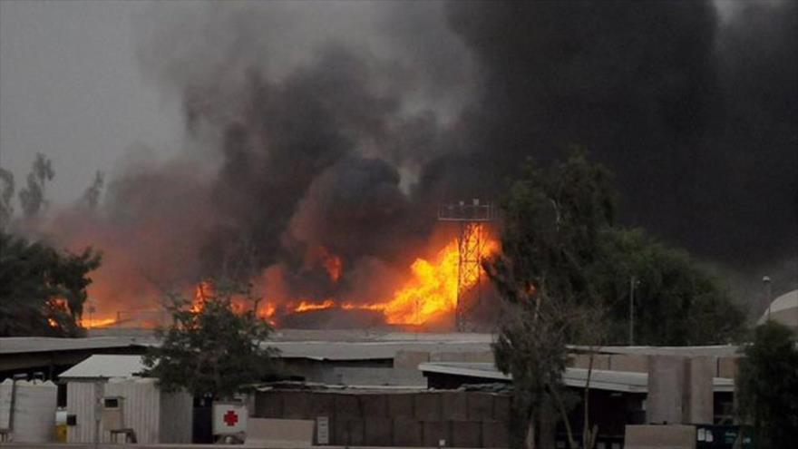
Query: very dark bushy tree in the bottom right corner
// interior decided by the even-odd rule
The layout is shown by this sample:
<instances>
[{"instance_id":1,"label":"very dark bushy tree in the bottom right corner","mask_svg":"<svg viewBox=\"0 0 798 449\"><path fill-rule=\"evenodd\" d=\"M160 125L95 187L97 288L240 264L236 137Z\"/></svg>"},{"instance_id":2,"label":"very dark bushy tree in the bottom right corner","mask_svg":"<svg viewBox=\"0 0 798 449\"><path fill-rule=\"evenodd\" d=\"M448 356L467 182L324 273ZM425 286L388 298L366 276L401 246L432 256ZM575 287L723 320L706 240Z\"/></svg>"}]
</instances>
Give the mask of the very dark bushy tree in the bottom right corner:
<instances>
[{"instance_id":1,"label":"very dark bushy tree in the bottom right corner","mask_svg":"<svg viewBox=\"0 0 798 449\"><path fill-rule=\"evenodd\" d=\"M793 447L798 435L798 338L767 321L743 348L736 377L738 413L754 425L757 447Z\"/></svg>"}]
</instances>

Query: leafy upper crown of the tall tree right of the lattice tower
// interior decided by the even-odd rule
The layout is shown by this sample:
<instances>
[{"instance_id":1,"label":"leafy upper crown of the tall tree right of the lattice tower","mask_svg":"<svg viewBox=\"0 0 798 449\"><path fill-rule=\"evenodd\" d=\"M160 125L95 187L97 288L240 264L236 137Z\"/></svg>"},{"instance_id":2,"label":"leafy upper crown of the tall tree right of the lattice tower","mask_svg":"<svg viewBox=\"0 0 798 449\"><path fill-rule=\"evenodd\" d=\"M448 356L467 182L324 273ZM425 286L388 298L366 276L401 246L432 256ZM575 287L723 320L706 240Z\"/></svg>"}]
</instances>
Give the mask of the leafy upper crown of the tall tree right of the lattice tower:
<instances>
[{"instance_id":1,"label":"leafy upper crown of the tall tree right of the lattice tower","mask_svg":"<svg viewBox=\"0 0 798 449\"><path fill-rule=\"evenodd\" d=\"M608 179L582 153L548 171L528 164L503 207L502 253L485 267L502 298L518 304L538 291L560 301L598 299L584 268L614 217Z\"/></svg>"}]
</instances>

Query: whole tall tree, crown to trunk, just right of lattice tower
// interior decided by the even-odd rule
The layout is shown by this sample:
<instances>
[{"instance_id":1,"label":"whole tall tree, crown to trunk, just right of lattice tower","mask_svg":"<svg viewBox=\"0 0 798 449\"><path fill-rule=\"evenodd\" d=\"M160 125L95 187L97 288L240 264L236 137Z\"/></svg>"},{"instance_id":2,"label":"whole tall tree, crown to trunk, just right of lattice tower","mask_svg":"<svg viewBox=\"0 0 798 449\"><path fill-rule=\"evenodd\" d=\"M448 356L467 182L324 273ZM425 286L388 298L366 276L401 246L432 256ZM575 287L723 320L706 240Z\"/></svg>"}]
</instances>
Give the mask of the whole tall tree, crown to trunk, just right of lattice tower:
<instances>
[{"instance_id":1,"label":"whole tall tree, crown to trunk, just right of lattice tower","mask_svg":"<svg viewBox=\"0 0 798 449\"><path fill-rule=\"evenodd\" d=\"M567 415L566 344L576 335L580 306L600 299L585 268L599 255L601 229L613 222L608 181L608 171L582 153L548 171L529 163L504 204L502 251L484 268L510 309L493 351L496 366L515 386L519 422L513 427L524 429L514 435L516 445L551 445L551 432L548 438L540 434L551 425L547 412L556 408ZM574 445L567 419L565 424Z\"/></svg>"}]
</instances>

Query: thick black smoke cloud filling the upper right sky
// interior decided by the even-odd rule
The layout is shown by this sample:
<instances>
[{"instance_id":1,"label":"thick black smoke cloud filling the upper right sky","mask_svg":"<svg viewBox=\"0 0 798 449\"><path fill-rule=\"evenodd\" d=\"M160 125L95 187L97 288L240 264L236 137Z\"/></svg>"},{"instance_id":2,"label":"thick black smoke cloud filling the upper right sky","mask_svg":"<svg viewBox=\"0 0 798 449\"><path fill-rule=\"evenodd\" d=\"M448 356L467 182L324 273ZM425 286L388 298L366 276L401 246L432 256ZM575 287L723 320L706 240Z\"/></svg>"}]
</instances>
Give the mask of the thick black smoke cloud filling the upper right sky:
<instances>
[{"instance_id":1,"label":"thick black smoke cloud filling the upper right sky","mask_svg":"<svg viewBox=\"0 0 798 449\"><path fill-rule=\"evenodd\" d=\"M579 145L628 223L737 267L795 257L798 15L746 5L728 24L700 1L450 5L483 73L466 165L498 181Z\"/></svg>"}]
</instances>

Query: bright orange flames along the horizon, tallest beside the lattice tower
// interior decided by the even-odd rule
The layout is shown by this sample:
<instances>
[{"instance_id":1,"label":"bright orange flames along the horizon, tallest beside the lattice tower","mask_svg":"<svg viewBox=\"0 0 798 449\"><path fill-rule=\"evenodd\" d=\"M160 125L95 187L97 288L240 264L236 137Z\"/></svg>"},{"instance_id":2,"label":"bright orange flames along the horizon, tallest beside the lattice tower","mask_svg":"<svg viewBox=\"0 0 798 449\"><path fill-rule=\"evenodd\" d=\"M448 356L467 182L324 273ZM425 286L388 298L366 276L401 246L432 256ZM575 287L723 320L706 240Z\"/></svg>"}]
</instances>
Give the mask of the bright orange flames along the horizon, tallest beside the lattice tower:
<instances>
[{"instance_id":1,"label":"bright orange flames along the horizon, tallest beside the lattice tower","mask_svg":"<svg viewBox=\"0 0 798 449\"><path fill-rule=\"evenodd\" d=\"M489 256L499 249L499 244L487 229L478 225L476 232L482 241L482 256ZM336 298L281 299L269 298L269 286L263 286L263 298L257 302L258 317L277 324L278 317L326 309L372 310L381 312L384 320L391 325L424 325L437 318L445 317L457 307L458 288L473 288L484 275L482 268L479 276L460 279L465 285L458 285L459 245L457 239L451 239L442 249L434 253L432 258L415 259L410 266L410 276L399 288L394 288L386 298L375 298L375 301L346 301ZM331 281L336 282L342 275L343 263L339 257L324 248L315 249L310 259L323 267ZM194 291L191 307L198 311L208 298L216 294L209 281L200 282ZM251 298L232 298L233 306L244 310L252 307ZM107 327L116 323L114 318L83 318L83 327Z\"/></svg>"}]
</instances>

